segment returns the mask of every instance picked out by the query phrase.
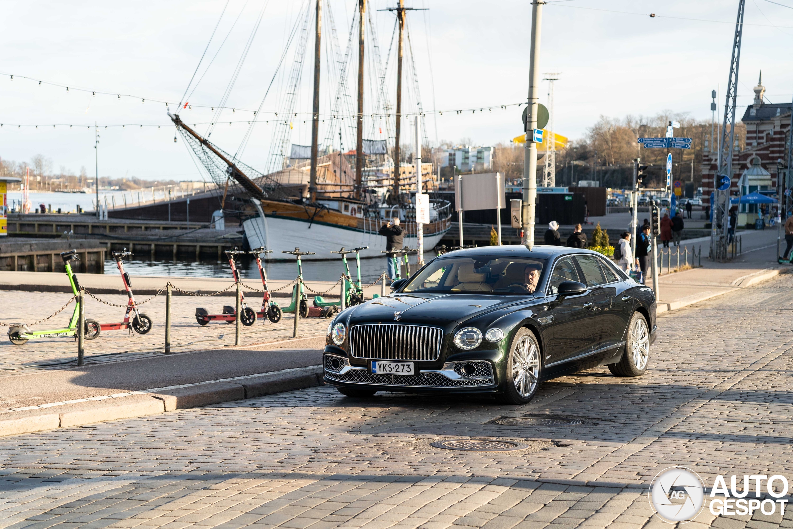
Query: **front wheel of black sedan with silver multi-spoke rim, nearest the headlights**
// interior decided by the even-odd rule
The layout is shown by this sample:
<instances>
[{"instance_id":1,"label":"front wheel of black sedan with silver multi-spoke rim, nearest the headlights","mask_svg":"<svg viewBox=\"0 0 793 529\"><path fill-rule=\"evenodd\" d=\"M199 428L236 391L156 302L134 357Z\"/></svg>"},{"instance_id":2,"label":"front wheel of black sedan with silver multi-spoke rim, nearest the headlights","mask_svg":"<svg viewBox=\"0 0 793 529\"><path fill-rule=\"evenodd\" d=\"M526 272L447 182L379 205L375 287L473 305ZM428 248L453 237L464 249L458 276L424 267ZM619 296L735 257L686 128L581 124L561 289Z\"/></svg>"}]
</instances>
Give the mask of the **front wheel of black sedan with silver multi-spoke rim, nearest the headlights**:
<instances>
[{"instance_id":1,"label":"front wheel of black sedan with silver multi-spoke rim, nearest the headlights","mask_svg":"<svg viewBox=\"0 0 793 529\"><path fill-rule=\"evenodd\" d=\"M527 404L534 398L542 373L542 351L534 332L523 327L509 344L504 393L497 397L502 404Z\"/></svg>"}]
</instances>

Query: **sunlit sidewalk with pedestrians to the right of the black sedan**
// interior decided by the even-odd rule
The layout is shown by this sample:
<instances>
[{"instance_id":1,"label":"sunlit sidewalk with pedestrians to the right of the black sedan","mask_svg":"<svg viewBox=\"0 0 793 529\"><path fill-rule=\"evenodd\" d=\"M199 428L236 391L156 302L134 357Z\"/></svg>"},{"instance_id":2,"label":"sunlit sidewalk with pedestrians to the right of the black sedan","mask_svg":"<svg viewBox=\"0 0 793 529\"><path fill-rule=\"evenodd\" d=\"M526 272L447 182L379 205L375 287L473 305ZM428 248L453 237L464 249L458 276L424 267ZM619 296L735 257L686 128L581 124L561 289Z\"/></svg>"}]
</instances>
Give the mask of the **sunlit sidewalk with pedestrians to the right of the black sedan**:
<instances>
[{"instance_id":1,"label":"sunlit sidewalk with pedestrians to the right of the black sedan","mask_svg":"<svg viewBox=\"0 0 793 529\"><path fill-rule=\"evenodd\" d=\"M680 309L791 270L790 265L776 262L776 229L738 232L737 236L741 237L743 253L730 263L707 259L710 241L707 238L684 241L681 247L703 248L702 268L662 274L658 278L658 312ZM646 278L645 283L651 285L652 278Z\"/></svg>"}]
</instances>

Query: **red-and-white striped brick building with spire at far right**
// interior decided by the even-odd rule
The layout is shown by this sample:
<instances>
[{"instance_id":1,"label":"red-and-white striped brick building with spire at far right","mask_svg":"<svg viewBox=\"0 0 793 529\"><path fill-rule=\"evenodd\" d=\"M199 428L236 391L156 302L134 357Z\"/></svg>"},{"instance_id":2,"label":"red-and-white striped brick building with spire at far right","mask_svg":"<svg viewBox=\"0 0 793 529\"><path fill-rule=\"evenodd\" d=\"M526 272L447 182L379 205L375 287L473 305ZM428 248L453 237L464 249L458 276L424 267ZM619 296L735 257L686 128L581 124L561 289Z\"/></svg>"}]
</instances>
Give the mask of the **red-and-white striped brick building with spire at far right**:
<instances>
[{"instance_id":1,"label":"red-and-white striped brick building with spire at far right","mask_svg":"<svg viewBox=\"0 0 793 529\"><path fill-rule=\"evenodd\" d=\"M757 190L776 190L776 178L780 169L784 169L787 160L785 145L790 143L791 104L766 103L763 101L765 87L762 73L757 86L754 87L754 101L749 105L741 121L746 125L746 145L743 150L737 147L733 151L733 173L730 193L738 191L739 181L743 186L742 194ZM702 186L703 205L709 206L711 193L714 190L714 175L718 172L718 152L713 146L703 152ZM741 215L738 224L751 221L755 207L742 206L748 216Z\"/></svg>"}]
</instances>

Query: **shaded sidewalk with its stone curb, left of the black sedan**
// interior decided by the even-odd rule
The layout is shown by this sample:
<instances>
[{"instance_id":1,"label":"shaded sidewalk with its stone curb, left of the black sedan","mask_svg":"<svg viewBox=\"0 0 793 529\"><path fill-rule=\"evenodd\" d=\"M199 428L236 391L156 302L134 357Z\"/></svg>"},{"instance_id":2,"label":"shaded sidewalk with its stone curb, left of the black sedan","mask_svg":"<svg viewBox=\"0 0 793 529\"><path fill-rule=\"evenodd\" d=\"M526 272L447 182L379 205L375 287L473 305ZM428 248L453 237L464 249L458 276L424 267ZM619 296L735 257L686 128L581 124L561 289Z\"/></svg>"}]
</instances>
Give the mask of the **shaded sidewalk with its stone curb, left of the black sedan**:
<instances>
[{"instance_id":1,"label":"shaded sidewalk with its stone curb, left of the black sedan","mask_svg":"<svg viewBox=\"0 0 793 529\"><path fill-rule=\"evenodd\" d=\"M321 385L324 343L312 337L0 378L0 436Z\"/></svg>"}]
</instances>

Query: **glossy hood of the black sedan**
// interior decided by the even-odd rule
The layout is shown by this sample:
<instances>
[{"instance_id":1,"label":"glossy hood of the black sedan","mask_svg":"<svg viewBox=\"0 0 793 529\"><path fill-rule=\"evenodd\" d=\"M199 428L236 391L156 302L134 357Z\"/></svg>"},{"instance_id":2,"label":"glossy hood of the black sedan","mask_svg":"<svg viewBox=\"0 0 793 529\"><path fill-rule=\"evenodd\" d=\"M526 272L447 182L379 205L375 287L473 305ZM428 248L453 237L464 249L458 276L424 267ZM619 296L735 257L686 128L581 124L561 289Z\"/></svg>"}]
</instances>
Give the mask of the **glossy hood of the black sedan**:
<instances>
[{"instance_id":1,"label":"glossy hood of the black sedan","mask_svg":"<svg viewBox=\"0 0 793 529\"><path fill-rule=\"evenodd\" d=\"M377 297L351 308L350 324L368 321L463 321L493 309L525 303L533 296L400 294ZM396 314L399 312L399 314Z\"/></svg>"}]
</instances>

